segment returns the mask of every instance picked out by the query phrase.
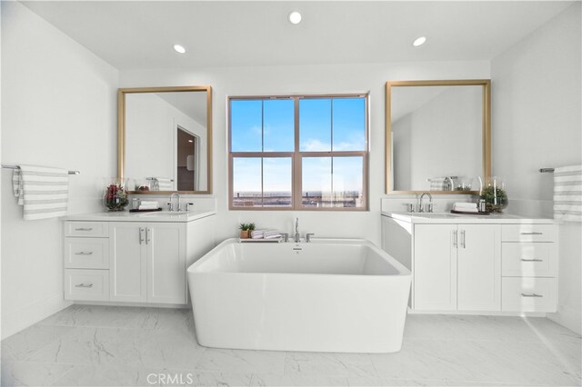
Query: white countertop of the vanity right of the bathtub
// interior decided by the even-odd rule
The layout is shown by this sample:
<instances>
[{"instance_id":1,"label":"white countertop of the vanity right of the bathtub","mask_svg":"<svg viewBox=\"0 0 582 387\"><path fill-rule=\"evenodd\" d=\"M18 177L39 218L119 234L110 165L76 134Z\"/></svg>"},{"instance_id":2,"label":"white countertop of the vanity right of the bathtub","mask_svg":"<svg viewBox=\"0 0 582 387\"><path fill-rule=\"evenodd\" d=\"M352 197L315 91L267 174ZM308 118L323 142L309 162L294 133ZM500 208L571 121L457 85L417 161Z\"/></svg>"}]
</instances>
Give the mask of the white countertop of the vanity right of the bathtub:
<instances>
[{"instance_id":1,"label":"white countertop of the vanity right of the bathtub","mask_svg":"<svg viewBox=\"0 0 582 387\"><path fill-rule=\"evenodd\" d=\"M514 215L512 213L490 213L488 215L479 215L462 213L404 213L396 211L383 211L382 215L407 223L557 223L554 219L527 218Z\"/></svg>"}]
</instances>

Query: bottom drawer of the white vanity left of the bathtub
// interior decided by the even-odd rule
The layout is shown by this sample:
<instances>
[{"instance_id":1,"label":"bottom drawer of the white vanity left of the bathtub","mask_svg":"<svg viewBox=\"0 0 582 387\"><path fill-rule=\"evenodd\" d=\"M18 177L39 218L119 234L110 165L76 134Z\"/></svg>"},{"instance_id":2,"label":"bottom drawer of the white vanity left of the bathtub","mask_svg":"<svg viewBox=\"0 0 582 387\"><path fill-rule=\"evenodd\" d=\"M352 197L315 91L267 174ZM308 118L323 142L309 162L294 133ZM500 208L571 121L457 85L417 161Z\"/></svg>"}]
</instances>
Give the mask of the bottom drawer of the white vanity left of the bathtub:
<instances>
[{"instance_id":1,"label":"bottom drawer of the white vanity left of the bathtub","mask_svg":"<svg viewBox=\"0 0 582 387\"><path fill-rule=\"evenodd\" d=\"M65 300L109 301L109 271L66 269Z\"/></svg>"}]
</instances>

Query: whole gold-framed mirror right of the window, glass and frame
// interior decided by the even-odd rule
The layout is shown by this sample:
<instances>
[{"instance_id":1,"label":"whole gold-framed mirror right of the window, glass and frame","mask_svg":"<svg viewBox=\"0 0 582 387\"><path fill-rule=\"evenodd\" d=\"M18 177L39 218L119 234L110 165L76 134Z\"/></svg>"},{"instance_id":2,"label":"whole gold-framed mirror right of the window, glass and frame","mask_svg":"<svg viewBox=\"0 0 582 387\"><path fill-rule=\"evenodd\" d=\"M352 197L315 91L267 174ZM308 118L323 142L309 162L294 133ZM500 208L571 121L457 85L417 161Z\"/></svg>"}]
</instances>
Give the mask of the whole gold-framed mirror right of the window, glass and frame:
<instances>
[{"instance_id":1,"label":"whole gold-framed mirror right of the window, glass and frame","mask_svg":"<svg viewBox=\"0 0 582 387\"><path fill-rule=\"evenodd\" d=\"M491 175L490 80L386 82L386 193L476 194Z\"/></svg>"}]
</instances>

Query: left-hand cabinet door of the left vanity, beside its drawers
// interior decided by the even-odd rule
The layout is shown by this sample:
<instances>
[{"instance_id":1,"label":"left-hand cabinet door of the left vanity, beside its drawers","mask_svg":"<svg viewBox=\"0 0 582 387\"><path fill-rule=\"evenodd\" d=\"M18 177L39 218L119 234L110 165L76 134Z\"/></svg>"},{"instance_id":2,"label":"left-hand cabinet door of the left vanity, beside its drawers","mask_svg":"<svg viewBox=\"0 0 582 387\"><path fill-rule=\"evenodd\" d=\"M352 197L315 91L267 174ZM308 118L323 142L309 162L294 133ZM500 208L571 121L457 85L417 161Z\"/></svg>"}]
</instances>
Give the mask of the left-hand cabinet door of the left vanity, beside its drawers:
<instances>
[{"instance_id":1,"label":"left-hand cabinet door of the left vanity, beside its drawers","mask_svg":"<svg viewBox=\"0 0 582 387\"><path fill-rule=\"evenodd\" d=\"M146 224L111 222L109 227L111 300L146 302Z\"/></svg>"}]
</instances>

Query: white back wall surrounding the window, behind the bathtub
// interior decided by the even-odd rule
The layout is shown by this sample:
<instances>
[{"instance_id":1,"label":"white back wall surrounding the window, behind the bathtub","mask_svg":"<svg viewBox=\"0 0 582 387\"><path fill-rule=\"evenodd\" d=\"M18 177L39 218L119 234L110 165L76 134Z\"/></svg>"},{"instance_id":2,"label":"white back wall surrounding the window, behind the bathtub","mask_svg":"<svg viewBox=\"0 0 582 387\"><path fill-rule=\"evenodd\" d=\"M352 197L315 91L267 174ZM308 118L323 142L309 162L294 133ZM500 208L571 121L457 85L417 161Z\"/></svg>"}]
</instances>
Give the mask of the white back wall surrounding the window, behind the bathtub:
<instances>
[{"instance_id":1,"label":"white back wall surrounding the window, behind the bathtub","mask_svg":"<svg viewBox=\"0 0 582 387\"><path fill-rule=\"evenodd\" d=\"M488 78L483 62L395 63L381 65L310 65L213 68L202 70L142 70L120 72L120 87L209 84L213 87L214 188L217 198L217 240L234 237L237 225L318 236L365 237L380 245L380 198L384 195L384 101L388 80ZM227 122L228 95L329 94L370 92L369 212L228 211Z\"/></svg>"}]
</instances>

